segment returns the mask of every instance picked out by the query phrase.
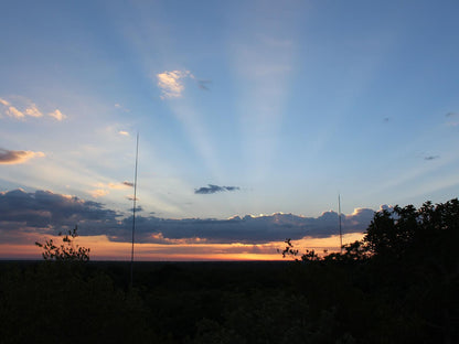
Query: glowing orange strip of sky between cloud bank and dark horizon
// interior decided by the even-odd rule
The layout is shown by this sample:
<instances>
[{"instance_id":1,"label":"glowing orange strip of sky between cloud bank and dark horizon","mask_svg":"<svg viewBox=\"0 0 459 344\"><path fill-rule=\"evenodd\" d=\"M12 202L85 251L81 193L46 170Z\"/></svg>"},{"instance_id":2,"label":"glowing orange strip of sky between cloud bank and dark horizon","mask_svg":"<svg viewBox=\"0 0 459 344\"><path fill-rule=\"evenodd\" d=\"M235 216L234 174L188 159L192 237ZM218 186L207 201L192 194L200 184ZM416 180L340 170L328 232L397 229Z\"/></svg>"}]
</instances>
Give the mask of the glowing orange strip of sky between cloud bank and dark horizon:
<instances>
[{"instance_id":1,"label":"glowing orange strip of sky between cloud bank and dark horizon","mask_svg":"<svg viewBox=\"0 0 459 344\"><path fill-rule=\"evenodd\" d=\"M343 235L343 244L362 239L363 234ZM46 239L61 243L57 236ZM0 244L0 259L42 259L42 248L30 244ZM44 240L39 241L43 243ZM307 249L316 250L319 256L340 251L339 236L328 238L303 238L291 241L299 250L298 258ZM90 248L92 260L130 261L131 243L110 241L107 236L81 236L76 245ZM135 244L135 260L137 261L201 261L201 260L288 260L278 250L282 250L284 241L266 244Z\"/></svg>"}]
</instances>

